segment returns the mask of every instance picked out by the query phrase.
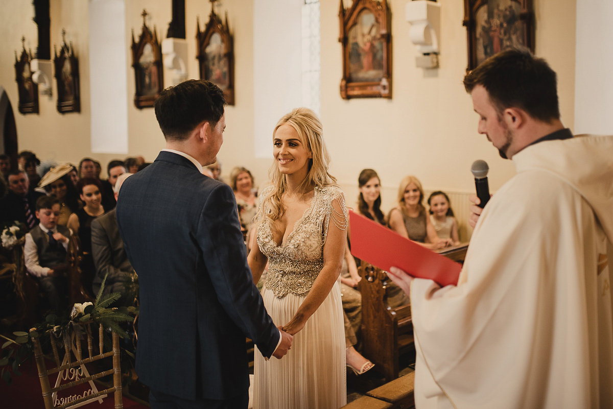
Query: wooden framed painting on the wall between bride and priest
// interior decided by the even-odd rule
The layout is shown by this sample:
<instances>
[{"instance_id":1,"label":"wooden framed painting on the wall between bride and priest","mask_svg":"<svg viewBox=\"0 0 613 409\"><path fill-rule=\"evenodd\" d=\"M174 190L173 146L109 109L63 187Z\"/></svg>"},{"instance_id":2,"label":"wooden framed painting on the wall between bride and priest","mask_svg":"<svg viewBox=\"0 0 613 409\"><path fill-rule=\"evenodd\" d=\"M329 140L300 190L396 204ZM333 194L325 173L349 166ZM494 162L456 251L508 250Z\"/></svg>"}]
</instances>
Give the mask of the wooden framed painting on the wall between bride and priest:
<instances>
[{"instance_id":1,"label":"wooden framed painting on the wall between bride and priest","mask_svg":"<svg viewBox=\"0 0 613 409\"><path fill-rule=\"evenodd\" d=\"M343 50L341 97L392 97L391 16L386 0L354 0L345 9L340 2Z\"/></svg>"}]
</instances>

